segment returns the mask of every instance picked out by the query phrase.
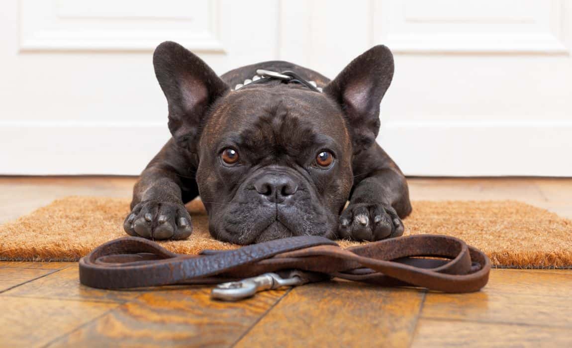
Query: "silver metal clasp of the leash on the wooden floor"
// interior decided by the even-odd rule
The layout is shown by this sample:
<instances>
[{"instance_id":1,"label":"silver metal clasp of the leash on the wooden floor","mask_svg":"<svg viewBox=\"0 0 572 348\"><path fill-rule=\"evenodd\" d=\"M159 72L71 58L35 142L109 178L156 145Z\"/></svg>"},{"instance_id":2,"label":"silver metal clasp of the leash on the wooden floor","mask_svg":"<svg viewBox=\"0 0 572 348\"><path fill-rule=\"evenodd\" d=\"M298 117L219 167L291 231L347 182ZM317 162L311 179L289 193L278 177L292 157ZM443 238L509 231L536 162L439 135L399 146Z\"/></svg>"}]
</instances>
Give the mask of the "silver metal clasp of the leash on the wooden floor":
<instances>
[{"instance_id":1,"label":"silver metal clasp of the leash on the wooden floor","mask_svg":"<svg viewBox=\"0 0 572 348\"><path fill-rule=\"evenodd\" d=\"M241 281L221 283L210 291L210 297L223 301L237 301L252 297L258 291L301 284L303 284L303 280L297 275L293 275L291 278L281 278L276 273L264 273Z\"/></svg>"}]
</instances>

